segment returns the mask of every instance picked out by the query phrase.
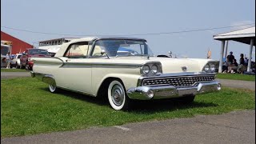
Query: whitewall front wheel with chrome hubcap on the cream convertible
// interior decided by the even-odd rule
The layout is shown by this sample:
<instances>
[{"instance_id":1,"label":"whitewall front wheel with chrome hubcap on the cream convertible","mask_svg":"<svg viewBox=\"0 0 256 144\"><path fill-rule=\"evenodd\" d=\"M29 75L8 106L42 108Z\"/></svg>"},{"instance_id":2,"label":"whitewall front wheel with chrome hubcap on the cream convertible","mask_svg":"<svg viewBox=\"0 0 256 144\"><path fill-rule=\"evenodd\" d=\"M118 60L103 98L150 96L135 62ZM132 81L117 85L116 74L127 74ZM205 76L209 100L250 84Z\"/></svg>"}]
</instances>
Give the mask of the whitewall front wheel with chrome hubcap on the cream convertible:
<instances>
[{"instance_id":1,"label":"whitewall front wheel with chrome hubcap on the cream convertible","mask_svg":"<svg viewBox=\"0 0 256 144\"><path fill-rule=\"evenodd\" d=\"M126 90L119 80L110 82L108 87L108 99L110 106L114 110L128 110L130 98L126 94Z\"/></svg>"}]
</instances>

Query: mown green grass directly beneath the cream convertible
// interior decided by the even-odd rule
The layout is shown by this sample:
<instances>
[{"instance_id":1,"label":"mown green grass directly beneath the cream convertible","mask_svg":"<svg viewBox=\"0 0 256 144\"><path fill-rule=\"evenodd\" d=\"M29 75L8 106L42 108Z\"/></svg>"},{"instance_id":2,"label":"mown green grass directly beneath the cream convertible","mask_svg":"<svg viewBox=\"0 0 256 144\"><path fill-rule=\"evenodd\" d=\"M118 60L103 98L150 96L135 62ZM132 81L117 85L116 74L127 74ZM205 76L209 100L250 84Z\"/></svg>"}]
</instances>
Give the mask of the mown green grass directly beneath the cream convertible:
<instances>
[{"instance_id":1,"label":"mown green grass directly beneath the cream convertible","mask_svg":"<svg viewBox=\"0 0 256 144\"><path fill-rule=\"evenodd\" d=\"M223 88L198 95L187 106L170 100L146 101L137 102L130 111L117 111L98 98L66 90L51 94L35 78L1 80L2 138L250 109L255 109L255 94L250 90Z\"/></svg>"}]
</instances>

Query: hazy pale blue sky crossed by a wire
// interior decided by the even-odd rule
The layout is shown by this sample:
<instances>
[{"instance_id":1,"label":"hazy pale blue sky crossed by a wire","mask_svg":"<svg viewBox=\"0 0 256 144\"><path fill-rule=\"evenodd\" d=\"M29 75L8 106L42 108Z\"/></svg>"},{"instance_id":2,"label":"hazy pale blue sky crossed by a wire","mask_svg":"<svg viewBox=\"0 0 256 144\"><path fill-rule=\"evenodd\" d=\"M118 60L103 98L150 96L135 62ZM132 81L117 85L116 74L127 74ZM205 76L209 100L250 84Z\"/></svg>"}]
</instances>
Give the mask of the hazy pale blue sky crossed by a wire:
<instances>
[{"instance_id":1,"label":"hazy pale blue sky crossed by a wire","mask_svg":"<svg viewBox=\"0 0 256 144\"><path fill-rule=\"evenodd\" d=\"M1 26L54 34L150 34L254 22L254 0L1 0ZM154 54L171 50L178 56L206 58L210 48L212 58L218 60L221 42L213 35L240 28L134 37L146 38ZM50 38L78 37L1 30L35 46L34 42ZM249 46L229 42L230 50L239 58L240 53L248 55Z\"/></svg>"}]
</instances>

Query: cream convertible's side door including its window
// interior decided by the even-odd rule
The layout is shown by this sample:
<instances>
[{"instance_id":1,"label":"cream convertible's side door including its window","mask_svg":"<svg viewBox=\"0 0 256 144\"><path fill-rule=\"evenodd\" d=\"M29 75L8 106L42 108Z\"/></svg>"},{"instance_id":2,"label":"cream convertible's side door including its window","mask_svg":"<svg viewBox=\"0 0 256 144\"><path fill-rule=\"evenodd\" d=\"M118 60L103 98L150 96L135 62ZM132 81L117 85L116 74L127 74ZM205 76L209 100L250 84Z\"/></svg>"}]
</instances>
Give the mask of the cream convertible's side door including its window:
<instances>
[{"instance_id":1,"label":"cream convertible's side door including its window","mask_svg":"<svg viewBox=\"0 0 256 144\"><path fill-rule=\"evenodd\" d=\"M63 65L55 75L57 86L91 94L91 63L88 61L91 45L88 42L70 44L61 57Z\"/></svg>"}]
</instances>

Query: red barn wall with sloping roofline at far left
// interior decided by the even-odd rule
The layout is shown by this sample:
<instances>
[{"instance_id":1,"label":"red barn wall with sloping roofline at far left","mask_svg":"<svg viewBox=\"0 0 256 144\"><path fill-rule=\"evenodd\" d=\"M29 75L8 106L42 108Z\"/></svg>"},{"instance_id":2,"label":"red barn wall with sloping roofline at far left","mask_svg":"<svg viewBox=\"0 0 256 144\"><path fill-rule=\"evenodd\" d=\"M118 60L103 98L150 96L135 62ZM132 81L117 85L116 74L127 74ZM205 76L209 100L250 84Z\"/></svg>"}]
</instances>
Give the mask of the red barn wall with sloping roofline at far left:
<instances>
[{"instance_id":1,"label":"red barn wall with sloping roofline at far left","mask_svg":"<svg viewBox=\"0 0 256 144\"><path fill-rule=\"evenodd\" d=\"M11 36L10 34L6 34L5 32L2 32L2 31L1 31L1 41L12 42L12 44L13 44L12 50L11 50L12 54L18 54L20 52L25 51L28 48L33 48L33 46L30 45L29 43L26 43L18 38Z\"/></svg>"}]
</instances>

